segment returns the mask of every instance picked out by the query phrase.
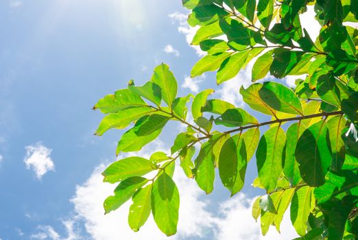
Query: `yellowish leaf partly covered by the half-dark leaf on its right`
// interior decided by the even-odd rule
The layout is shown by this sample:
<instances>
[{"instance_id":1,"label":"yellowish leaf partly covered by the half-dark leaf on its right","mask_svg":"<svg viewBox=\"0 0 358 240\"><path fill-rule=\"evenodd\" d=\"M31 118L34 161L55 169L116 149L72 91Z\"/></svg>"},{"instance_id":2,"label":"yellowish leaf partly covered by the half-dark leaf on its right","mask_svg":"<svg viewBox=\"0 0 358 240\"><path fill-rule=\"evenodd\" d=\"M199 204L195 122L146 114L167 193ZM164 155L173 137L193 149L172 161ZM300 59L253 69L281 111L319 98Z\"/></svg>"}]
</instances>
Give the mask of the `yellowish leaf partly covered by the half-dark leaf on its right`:
<instances>
[{"instance_id":1,"label":"yellowish leaf partly covered by the half-dark leaf on its right","mask_svg":"<svg viewBox=\"0 0 358 240\"><path fill-rule=\"evenodd\" d=\"M262 84L252 84L248 88L240 88L240 93L243 97L243 101L254 110L264 113L265 115L276 115L276 110L268 106L259 95L259 91L262 88Z\"/></svg>"}]
</instances>

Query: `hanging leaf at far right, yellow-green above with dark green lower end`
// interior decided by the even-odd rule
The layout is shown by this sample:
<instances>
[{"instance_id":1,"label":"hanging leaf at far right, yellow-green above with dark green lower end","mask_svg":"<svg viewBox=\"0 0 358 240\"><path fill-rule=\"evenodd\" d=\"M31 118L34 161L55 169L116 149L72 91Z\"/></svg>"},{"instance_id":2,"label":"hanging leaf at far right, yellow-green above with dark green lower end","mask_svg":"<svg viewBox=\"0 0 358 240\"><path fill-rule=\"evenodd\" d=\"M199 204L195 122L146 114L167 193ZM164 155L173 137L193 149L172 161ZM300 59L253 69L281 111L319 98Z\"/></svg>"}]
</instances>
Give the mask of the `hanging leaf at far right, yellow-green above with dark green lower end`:
<instances>
[{"instance_id":1,"label":"hanging leaf at far right, yellow-green above with dark green lower end","mask_svg":"<svg viewBox=\"0 0 358 240\"><path fill-rule=\"evenodd\" d=\"M344 141L342 139L342 132L346 126L346 119L343 115L334 116L327 121L327 128L329 130L329 141L331 143L332 165L333 171L339 171L344 163Z\"/></svg>"}]
</instances>

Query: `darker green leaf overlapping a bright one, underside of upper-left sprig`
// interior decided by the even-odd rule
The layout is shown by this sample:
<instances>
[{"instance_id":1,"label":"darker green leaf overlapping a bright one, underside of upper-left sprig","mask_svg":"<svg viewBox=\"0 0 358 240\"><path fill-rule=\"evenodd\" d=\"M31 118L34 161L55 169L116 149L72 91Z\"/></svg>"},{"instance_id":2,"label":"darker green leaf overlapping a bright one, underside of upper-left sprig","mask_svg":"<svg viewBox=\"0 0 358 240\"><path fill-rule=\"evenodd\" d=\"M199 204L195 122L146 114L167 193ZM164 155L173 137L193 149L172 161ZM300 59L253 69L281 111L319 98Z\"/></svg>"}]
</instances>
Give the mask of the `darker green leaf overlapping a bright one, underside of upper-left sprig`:
<instances>
[{"instance_id":1,"label":"darker green leaf overlapping a bright one, underside of upper-left sprig","mask_svg":"<svg viewBox=\"0 0 358 240\"><path fill-rule=\"evenodd\" d=\"M147 136L164 128L165 124L169 121L170 117L163 115L150 115L143 118L143 122L134 130L136 136Z\"/></svg>"}]
</instances>

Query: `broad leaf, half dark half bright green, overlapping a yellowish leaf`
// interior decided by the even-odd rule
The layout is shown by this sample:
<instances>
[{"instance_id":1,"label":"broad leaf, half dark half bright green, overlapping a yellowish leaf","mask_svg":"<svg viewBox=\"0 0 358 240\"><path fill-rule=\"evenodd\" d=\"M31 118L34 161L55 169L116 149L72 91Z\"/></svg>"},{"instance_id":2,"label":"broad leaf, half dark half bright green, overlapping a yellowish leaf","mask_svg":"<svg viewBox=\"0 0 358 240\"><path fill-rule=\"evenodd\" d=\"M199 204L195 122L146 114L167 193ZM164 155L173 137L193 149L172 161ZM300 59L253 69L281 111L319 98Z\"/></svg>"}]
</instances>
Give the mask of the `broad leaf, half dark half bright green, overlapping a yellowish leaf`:
<instances>
[{"instance_id":1,"label":"broad leaf, half dark half bright green, overlapping a yellowish leaf","mask_svg":"<svg viewBox=\"0 0 358 240\"><path fill-rule=\"evenodd\" d=\"M280 112L303 115L300 99L291 89L276 82L264 82L259 96L265 104Z\"/></svg>"}]
</instances>

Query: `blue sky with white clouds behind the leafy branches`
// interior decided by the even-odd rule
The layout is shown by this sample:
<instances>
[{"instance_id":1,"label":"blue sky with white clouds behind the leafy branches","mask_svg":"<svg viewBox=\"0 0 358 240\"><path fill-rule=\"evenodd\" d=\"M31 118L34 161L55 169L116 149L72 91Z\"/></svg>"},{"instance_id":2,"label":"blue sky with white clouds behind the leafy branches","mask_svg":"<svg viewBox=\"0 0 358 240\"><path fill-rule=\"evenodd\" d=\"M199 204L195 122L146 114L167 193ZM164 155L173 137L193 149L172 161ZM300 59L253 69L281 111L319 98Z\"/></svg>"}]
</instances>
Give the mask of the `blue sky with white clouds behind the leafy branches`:
<instances>
[{"instance_id":1,"label":"blue sky with white clouds behind the leafy branches","mask_svg":"<svg viewBox=\"0 0 358 240\"><path fill-rule=\"evenodd\" d=\"M143 84L166 62L180 86L179 95L215 88L244 106L238 94L250 84L250 69L221 86L214 75L190 80L200 53L187 43L193 34L181 1L165 0L2 0L0 1L0 239L167 239L152 217L130 232L128 205L104 216L102 202L115 186L102 183L100 171L115 160L120 130L93 136L103 117L91 110L104 95ZM158 141L139 154L169 149L180 130L169 125ZM242 194L215 184L204 195L177 169L182 189L178 235L171 239L289 239L272 228L260 237L250 216L248 167ZM218 183L218 182L217 182ZM287 227L285 227L287 226Z\"/></svg>"}]
</instances>

